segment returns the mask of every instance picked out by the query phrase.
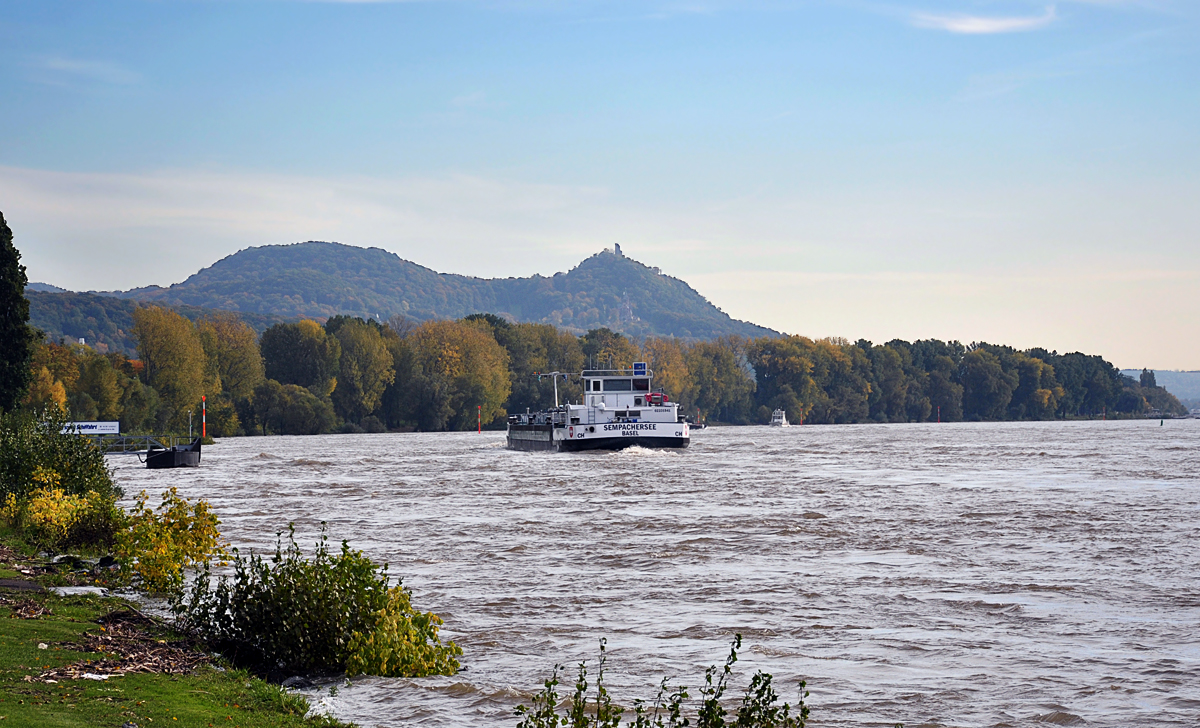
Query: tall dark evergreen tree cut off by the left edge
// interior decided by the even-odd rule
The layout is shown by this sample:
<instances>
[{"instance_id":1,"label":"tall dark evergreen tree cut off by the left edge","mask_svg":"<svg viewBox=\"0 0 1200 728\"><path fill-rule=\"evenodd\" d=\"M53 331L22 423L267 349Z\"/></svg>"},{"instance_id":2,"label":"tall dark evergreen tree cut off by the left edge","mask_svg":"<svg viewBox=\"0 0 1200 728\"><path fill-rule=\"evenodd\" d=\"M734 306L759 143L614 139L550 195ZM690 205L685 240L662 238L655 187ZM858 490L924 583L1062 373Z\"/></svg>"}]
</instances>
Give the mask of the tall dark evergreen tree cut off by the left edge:
<instances>
[{"instance_id":1,"label":"tall dark evergreen tree cut off by the left edge","mask_svg":"<svg viewBox=\"0 0 1200 728\"><path fill-rule=\"evenodd\" d=\"M40 336L29 325L28 283L20 251L12 243L12 230L0 213L0 342L4 342L0 345L0 411L12 410L24 397L34 343Z\"/></svg>"}]
</instances>

